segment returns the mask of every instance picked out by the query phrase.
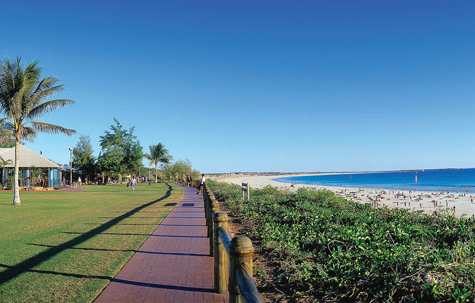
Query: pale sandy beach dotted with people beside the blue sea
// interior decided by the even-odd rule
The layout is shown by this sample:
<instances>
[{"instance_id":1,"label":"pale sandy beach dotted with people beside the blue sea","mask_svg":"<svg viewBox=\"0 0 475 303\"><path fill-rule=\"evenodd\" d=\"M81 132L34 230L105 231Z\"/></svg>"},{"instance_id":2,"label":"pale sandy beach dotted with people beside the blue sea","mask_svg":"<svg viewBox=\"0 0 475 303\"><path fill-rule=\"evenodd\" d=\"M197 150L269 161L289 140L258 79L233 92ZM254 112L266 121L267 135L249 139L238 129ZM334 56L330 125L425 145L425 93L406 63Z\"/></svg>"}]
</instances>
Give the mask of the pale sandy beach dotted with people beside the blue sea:
<instances>
[{"instance_id":1,"label":"pale sandy beach dotted with people beside the blue sea","mask_svg":"<svg viewBox=\"0 0 475 303\"><path fill-rule=\"evenodd\" d=\"M299 174L295 176L315 175L315 174ZM475 215L475 200L474 194L467 194L463 190L442 192L431 191L409 191L409 190L389 190L377 188L363 188L363 187L333 187L333 186L318 186L307 184L291 184L272 181L271 179L278 177L291 177L294 175L265 175L265 176L251 176L247 175L224 175L218 177L211 177L216 181L228 182L237 185L249 183L251 187L262 188L267 185L277 187L279 189L287 189L295 191L300 187L309 189L327 189L337 193L341 197L353 199L361 203L372 203L374 207L381 207L387 205L391 208L406 208L414 209L416 211L423 210L424 212L432 213L442 209L450 208L453 212L455 206L455 216L460 217L463 214L467 216ZM437 206L435 206L437 204Z\"/></svg>"}]
</instances>

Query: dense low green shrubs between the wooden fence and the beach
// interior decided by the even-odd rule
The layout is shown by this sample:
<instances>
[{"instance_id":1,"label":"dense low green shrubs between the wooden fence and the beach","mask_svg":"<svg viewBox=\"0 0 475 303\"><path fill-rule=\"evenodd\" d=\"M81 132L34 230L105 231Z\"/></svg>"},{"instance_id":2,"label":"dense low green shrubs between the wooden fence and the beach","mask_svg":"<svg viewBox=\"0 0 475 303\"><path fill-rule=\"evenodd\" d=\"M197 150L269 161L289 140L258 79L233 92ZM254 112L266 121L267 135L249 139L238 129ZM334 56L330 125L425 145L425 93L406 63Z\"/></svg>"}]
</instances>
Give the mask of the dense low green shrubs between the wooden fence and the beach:
<instances>
[{"instance_id":1,"label":"dense low green shrubs between the wooden fence and the beach","mask_svg":"<svg viewBox=\"0 0 475 303\"><path fill-rule=\"evenodd\" d=\"M305 188L251 189L248 202L240 186L207 184L264 256L267 269L254 273L277 300L475 301L473 216L373 208Z\"/></svg>"}]
</instances>

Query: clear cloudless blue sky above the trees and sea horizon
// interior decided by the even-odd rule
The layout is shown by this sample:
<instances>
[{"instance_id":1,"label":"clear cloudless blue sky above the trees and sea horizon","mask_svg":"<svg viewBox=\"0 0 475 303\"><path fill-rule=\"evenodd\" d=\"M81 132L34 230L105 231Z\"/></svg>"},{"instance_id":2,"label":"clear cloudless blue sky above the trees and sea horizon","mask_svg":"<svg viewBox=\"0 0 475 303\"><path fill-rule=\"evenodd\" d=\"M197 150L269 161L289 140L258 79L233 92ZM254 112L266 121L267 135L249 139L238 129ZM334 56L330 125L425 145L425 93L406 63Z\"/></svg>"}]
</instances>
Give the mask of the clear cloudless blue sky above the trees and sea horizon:
<instances>
[{"instance_id":1,"label":"clear cloudless blue sky above the trees and sea horizon","mask_svg":"<svg viewBox=\"0 0 475 303\"><path fill-rule=\"evenodd\" d=\"M0 55L202 172L475 167L473 1L15 1ZM27 146L60 163L79 136ZM147 165L147 162L144 162Z\"/></svg>"}]
</instances>

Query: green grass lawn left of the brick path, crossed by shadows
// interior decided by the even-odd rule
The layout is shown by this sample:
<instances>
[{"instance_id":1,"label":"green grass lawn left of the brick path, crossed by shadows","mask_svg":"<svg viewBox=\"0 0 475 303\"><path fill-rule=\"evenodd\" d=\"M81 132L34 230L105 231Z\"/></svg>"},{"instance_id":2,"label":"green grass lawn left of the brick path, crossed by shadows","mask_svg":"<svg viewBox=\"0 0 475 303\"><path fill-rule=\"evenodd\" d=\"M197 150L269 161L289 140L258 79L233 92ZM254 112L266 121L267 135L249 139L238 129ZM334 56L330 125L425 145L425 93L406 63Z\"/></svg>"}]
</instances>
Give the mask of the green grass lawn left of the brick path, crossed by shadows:
<instances>
[{"instance_id":1,"label":"green grass lawn left of the brick path, crossed by shadows","mask_svg":"<svg viewBox=\"0 0 475 303\"><path fill-rule=\"evenodd\" d=\"M0 192L0 301L90 302L182 198L176 185Z\"/></svg>"}]
</instances>

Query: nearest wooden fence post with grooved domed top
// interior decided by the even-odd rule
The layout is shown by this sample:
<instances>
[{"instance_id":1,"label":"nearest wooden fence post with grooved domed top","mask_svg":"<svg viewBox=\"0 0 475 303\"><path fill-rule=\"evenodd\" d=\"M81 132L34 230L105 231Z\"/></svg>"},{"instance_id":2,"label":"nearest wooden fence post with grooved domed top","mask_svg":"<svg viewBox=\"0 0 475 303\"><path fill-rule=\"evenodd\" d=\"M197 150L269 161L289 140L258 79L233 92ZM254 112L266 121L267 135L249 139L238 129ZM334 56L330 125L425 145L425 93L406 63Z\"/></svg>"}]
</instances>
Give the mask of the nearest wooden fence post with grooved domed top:
<instances>
[{"instance_id":1,"label":"nearest wooden fence post with grooved domed top","mask_svg":"<svg viewBox=\"0 0 475 303\"><path fill-rule=\"evenodd\" d=\"M252 276L252 254L254 247L250 238L245 236L236 236L232 238L229 245L229 302L241 303L242 297L236 282L236 268L244 265L249 269Z\"/></svg>"}]
</instances>

